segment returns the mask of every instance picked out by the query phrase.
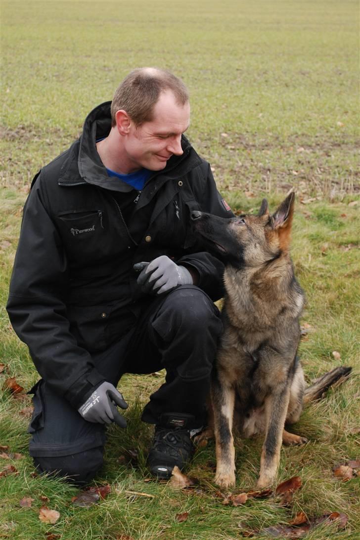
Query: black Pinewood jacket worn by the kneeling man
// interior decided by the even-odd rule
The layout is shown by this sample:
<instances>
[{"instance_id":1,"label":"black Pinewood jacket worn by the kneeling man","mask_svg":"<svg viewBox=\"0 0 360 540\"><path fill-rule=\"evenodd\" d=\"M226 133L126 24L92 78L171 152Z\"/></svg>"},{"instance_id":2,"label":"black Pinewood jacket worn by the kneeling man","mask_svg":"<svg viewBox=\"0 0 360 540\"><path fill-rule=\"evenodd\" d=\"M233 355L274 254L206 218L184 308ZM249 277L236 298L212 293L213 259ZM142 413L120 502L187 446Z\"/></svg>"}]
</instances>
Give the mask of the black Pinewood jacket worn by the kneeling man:
<instances>
[{"instance_id":1,"label":"black Pinewood jacket worn by the kneeling man","mask_svg":"<svg viewBox=\"0 0 360 540\"><path fill-rule=\"evenodd\" d=\"M104 380L91 353L130 332L152 301L138 291L135 262L166 254L195 268L213 300L223 293L223 265L196 246L189 223L192 210L232 217L209 164L183 137L182 156L154 172L138 197L108 177L96 151L110 128L107 102L33 180L7 306L38 372L74 407Z\"/></svg>"}]
</instances>

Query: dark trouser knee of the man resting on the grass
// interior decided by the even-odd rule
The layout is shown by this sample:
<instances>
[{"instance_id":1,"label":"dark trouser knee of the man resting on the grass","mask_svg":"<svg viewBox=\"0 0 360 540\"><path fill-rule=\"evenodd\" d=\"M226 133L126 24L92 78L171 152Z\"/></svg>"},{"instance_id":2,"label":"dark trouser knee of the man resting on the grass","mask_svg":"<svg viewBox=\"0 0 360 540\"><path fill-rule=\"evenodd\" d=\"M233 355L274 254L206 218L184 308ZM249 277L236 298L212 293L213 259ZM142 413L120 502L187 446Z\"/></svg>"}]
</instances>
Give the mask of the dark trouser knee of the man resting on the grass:
<instances>
[{"instance_id":1,"label":"dark trouser knee of the man resting on the grass","mask_svg":"<svg viewBox=\"0 0 360 540\"><path fill-rule=\"evenodd\" d=\"M91 448L68 456L33 457L35 467L41 474L64 477L77 485L89 484L103 465L103 448Z\"/></svg>"}]
</instances>

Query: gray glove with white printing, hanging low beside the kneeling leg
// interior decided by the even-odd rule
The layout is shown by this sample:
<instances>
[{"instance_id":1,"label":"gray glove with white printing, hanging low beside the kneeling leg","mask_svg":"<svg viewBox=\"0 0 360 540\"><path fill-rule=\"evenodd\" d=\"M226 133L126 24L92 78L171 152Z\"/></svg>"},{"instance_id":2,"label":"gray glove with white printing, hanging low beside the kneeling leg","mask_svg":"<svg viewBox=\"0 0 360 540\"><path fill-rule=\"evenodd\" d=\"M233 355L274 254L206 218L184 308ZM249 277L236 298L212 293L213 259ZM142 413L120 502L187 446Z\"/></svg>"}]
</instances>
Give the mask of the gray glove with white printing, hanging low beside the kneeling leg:
<instances>
[{"instance_id":1,"label":"gray glove with white printing, hanging low beside the kneeling leg","mask_svg":"<svg viewBox=\"0 0 360 540\"><path fill-rule=\"evenodd\" d=\"M103 382L94 390L89 399L78 409L84 420L110 424L115 422L120 428L126 428L126 420L118 413L116 403L121 409L127 409L128 404L123 396L110 382Z\"/></svg>"}]
</instances>

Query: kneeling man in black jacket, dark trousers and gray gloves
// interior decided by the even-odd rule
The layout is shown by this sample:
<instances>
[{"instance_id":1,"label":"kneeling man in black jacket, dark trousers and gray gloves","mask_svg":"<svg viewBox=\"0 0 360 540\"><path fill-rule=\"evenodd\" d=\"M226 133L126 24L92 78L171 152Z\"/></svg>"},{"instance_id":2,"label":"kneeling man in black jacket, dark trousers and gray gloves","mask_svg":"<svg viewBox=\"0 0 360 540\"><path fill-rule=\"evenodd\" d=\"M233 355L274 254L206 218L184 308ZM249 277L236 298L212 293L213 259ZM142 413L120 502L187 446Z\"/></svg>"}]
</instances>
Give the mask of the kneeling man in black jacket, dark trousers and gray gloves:
<instances>
[{"instance_id":1,"label":"kneeling man in black jacket, dark trousers and gray gloves","mask_svg":"<svg viewBox=\"0 0 360 540\"><path fill-rule=\"evenodd\" d=\"M148 465L167 478L191 458L222 330L223 265L196 245L189 216L232 213L183 135L189 111L181 80L134 70L33 180L8 312L42 377L29 426L39 471L89 482L106 424L126 426L121 375L162 368L142 414L155 424Z\"/></svg>"}]
</instances>

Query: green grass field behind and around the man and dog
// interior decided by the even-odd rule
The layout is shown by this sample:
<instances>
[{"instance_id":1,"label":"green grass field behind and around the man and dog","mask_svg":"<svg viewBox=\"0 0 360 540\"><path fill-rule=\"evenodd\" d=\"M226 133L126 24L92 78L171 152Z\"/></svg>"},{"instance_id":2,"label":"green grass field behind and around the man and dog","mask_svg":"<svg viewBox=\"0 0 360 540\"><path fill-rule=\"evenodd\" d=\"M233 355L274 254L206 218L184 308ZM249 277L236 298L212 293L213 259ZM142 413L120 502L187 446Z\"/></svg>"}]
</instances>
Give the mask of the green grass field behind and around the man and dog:
<instances>
[{"instance_id":1,"label":"green grass field behind and around the man and dog","mask_svg":"<svg viewBox=\"0 0 360 540\"><path fill-rule=\"evenodd\" d=\"M323 524L309 540L360 538L359 477L342 482L332 472L360 454L358 2L2 0L0 9L0 447L8 447L0 448L0 539L235 540L246 530L289 523L300 511L349 518L346 529ZM128 375L119 387L130 403L128 428L111 426L94 483L110 484L111 492L79 508L76 488L33 477L29 419L21 413L30 399L4 390L8 377L25 391L38 378L4 308L31 178L78 136L92 107L144 65L170 69L188 85L188 136L234 210L256 211L264 196L274 208L291 187L297 192L292 254L307 294L305 375L310 381L339 363L354 374L294 426L310 442L282 450L279 482L302 479L288 507L273 498L222 504L212 482L212 441L198 448L187 471L198 478L197 489L147 482L152 430L140 414L162 375ZM233 494L254 487L261 444L237 441ZM7 465L17 472L2 475ZM24 497L33 499L30 508L19 505ZM55 524L40 521L43 505L59 512ZM187 520L178 522L184 512Z\"/></svg>"}]
</instances>

